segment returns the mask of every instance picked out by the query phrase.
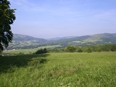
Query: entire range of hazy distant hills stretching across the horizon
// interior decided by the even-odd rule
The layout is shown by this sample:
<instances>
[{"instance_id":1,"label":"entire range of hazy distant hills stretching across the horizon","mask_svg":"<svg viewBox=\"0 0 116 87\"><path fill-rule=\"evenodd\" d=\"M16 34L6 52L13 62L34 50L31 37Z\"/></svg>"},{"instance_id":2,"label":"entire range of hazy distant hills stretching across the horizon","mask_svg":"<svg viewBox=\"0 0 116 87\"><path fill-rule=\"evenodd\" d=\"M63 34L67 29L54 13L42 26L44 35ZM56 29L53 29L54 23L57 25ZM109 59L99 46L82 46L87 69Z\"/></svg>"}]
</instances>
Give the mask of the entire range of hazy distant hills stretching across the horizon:
<instances>
[{"instance_id":1,"label":"entire range of hazy distant hills stretching across the horizon","mask_svg":"<svg viewBox=\"0 0 116 87\"><path fill-rule=\"evenodd\" d=\"M77 37L53 38L50 40L35 38L27 35L14 34L14 39L9 49L34 48L42 45L96 45L96 44L116 44L116 33L103 33L95 35L85 35Z\"/></svg>"}]
</instances>

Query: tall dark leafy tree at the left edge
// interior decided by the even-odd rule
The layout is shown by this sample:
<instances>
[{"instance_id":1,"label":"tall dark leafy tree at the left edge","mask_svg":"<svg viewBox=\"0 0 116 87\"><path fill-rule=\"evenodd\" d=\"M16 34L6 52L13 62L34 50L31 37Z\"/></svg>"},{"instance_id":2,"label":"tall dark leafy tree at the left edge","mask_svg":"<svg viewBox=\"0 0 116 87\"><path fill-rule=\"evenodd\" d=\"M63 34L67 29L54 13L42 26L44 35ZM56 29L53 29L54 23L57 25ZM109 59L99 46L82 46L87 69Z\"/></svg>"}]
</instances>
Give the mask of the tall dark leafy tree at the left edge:
<instances>
[{"instance_id":1,"label":"tall dark leafy tree at the left edge","mask_svg":"<svg viewBox=\"0 0 116 87\"><path fill-rule=\"evenodd\" d=\"M14 13L15 9L10 9L8 0L0 0L0 52L7 48L9 42L12 41L13 33L10 25L16 19Z\"/></svg>"}]
</instances>

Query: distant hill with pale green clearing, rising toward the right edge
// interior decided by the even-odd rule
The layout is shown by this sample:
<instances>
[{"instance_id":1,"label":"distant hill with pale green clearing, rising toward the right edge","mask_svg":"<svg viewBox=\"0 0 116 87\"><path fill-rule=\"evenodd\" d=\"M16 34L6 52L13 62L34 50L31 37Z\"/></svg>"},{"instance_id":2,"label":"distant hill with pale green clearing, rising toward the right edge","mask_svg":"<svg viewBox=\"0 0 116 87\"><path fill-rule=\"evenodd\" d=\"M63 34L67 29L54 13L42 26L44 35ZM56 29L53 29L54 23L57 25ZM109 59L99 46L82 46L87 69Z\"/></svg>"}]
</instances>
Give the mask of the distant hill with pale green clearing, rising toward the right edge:
<instances>
[{"instance_id":1,"label":"distant hill with pale green clearing, rising toward the right edge","mask_svg":"<svg viewBox=\"0 0 116 87\"><path fill-rule=\"evenodd\" d=\"M85 35L77 37L65 37L60 39L54 39L54 44L67 45L96 45L96 44L116 44L116 33L103 33L95 35Z\"/></svg>"}]
</instances>

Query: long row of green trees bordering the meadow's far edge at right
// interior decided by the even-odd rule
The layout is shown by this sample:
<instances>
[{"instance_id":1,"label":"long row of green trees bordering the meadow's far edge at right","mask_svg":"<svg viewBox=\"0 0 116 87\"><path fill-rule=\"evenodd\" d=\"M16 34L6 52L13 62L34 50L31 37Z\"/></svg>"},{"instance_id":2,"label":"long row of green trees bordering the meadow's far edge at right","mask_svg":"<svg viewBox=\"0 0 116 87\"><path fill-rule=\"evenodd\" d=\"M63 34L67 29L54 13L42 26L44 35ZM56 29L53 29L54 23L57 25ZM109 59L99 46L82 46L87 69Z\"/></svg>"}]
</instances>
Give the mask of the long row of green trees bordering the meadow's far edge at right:
<instances>
[{"instance_id":1,"label":"long row of green trees bordering the meadow's far edge at right","mask_svg":"<svg viewBox=\"0 0 116 87\"><path fill-rule=\"evenodd\" d=\"M103 52L116 51L116 44L94 45L94 46L67 46L65 48L54 48L51 52Z\"/></svg>"}]
</instances>

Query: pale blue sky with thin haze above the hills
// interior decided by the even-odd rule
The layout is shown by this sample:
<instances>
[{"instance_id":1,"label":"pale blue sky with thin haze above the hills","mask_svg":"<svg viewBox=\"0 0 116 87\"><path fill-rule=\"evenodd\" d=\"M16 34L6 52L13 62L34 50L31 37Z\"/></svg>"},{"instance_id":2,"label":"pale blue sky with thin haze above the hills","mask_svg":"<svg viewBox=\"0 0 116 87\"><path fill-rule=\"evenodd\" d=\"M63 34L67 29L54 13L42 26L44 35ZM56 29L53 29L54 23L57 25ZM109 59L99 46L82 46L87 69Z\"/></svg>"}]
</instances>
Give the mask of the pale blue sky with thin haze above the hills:
<instances>
[{"instance_id":1,"label":"pale blue sky with thin haze above the hills","mask_svg":"<svg viewBox=\"0 0 116 87\"><path fill-rule=\"evenodd\" d=\"M116 33L116 0L9 0L15 34L38 38Z\"/></svg>"}]
</instances>

